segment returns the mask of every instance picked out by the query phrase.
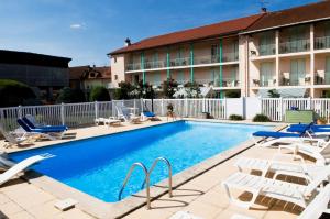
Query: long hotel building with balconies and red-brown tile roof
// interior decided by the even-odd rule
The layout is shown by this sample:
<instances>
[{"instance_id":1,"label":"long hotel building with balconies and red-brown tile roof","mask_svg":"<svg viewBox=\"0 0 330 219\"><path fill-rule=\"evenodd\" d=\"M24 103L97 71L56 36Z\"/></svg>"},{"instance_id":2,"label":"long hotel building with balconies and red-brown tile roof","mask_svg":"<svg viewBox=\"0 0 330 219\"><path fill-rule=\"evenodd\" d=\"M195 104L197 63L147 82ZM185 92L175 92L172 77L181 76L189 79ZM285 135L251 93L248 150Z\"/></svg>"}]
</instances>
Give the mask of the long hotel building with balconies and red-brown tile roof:
<instances>
[{"instance_id":1,"label":"long hotel building with balconies and red-brown tile roof","mask_svg":"<svg viewBox=\"0 0 330 219\"><path fill-rule=\"evenodd\" d=\"M276 89L322 97L330 91L330 1L128 41L108 55L114 87L173 78L212 86L220 96Z\"/></svg>"}]
</instances>

